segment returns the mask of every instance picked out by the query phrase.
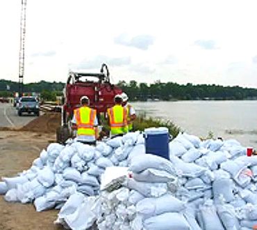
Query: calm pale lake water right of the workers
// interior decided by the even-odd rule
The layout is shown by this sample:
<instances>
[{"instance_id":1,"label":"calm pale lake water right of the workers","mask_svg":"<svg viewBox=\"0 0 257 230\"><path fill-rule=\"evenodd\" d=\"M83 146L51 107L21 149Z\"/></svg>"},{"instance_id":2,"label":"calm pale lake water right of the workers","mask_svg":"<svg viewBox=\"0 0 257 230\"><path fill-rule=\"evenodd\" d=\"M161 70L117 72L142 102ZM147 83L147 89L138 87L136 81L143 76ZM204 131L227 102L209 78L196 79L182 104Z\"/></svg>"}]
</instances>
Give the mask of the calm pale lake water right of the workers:
<instances>
[{"instance_id":1,"label":"calm pale lake water right of the workers","mask_svg":"<svg viewBox=\"0 0 257 230\"><path fill-rule=\"evenodd\" d=\"M133 102L138 112L169 119L182 130L199 137L211 131L215 137L237 139L257 148L257 101Z\"/></svg>"}]
</instances>

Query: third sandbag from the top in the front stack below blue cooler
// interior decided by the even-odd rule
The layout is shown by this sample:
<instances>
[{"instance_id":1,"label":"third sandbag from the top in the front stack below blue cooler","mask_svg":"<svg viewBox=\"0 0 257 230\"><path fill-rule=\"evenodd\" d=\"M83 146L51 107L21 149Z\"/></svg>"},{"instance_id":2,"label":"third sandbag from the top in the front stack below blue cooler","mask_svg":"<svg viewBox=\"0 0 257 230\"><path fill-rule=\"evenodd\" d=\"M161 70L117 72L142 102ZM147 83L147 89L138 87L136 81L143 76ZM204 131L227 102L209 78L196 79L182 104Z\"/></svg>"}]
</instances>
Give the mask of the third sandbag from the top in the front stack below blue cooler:
<instances>
[{"instance_id":1,"label":"third sandbag from the top in the front stack below blue cooler","mask_svg":"<svg viewBox=\"0 0 257 230\"><path fill-rule=\"evenodd\" d=\"M166 183L144 183L135 181L133 178L129 178L125 186L140 192L144 197L160 197L168 191Z\"/></svg>"}]
</instances>

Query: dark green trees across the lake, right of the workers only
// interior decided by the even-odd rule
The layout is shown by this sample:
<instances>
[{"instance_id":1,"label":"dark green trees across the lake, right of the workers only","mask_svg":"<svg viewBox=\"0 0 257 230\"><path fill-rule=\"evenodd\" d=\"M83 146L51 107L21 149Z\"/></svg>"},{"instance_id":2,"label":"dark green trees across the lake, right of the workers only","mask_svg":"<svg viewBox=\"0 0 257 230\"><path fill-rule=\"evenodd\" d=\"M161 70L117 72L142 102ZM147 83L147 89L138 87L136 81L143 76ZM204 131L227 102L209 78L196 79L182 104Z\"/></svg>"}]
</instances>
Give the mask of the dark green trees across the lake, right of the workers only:
<instances>
[{"instance_id":1,"label":"dark green trees across the lake, right of the workers only","mask_svg":"<svg viewBox=\"0 0 257 230\"><path fill-rule=\"evenodd\" d=\"M257 99L257 89L215 84L177 84L174 82L135 81L118 83L130 100L245 100Z\"/></svg>"}]
</instances>

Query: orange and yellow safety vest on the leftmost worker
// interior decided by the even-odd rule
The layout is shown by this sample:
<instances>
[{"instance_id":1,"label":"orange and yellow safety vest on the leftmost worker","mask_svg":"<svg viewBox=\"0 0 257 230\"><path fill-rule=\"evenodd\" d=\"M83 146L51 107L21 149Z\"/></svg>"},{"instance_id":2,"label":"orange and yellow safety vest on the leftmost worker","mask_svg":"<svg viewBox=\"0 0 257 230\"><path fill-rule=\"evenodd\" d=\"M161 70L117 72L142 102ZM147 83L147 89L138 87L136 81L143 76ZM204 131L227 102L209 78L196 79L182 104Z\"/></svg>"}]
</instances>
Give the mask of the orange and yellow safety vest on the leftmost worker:
<instances>
[{"instance_id":1,"label":"orange and yellow safety vest on the leftmost worker","mask_svg":"<svg viewBox=\"0 0 257 230\"><path fill-rule=\"evenodd\" d=\"M80 107L74 110L74 115L76 118L77 134L85 136L94 136L94 120L97 116L97 111L91 109L90 107Z\"/></svg>"}]
</instances>

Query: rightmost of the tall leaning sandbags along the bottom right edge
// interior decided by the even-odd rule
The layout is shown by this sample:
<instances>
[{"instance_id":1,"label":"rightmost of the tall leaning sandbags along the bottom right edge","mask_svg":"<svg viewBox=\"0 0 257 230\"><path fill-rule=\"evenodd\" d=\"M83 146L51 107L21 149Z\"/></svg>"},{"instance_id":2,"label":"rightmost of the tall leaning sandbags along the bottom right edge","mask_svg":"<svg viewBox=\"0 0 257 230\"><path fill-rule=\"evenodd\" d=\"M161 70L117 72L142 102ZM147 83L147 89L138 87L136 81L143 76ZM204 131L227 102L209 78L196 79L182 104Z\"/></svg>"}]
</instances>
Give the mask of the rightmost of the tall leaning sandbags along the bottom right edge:
<instances>
[{"instance_id":1,"label":"rightmost of the tall leaning sandbags along the bottom right edge","mask_svg":"<svg viewBox=\"0 0 257 230\"><path fill-rule=\"evenodd\" d=\"M226 230L239 229L238 218L235 215L235 208L230 204L217 206L217 214Z\"/></svg>"}]
</instances>

